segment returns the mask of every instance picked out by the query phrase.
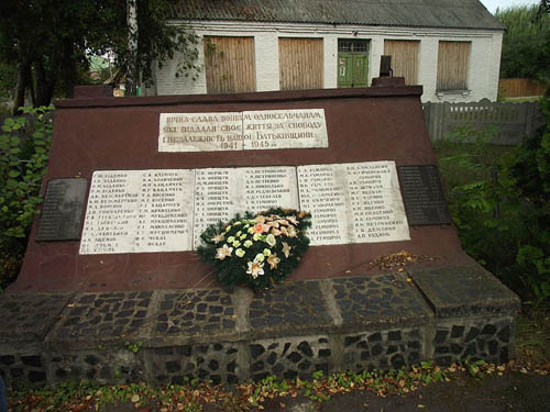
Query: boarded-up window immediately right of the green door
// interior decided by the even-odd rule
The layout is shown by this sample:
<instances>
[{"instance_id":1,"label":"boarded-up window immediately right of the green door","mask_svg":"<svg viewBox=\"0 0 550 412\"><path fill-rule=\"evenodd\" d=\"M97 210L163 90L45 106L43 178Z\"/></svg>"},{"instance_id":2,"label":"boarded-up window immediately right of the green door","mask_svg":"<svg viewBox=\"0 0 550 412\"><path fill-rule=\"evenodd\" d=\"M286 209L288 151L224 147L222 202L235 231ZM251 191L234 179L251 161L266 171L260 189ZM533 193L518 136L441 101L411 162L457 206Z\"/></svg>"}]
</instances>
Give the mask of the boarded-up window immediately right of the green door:
<instances>
[{"instance_id":1,"label":"boarded-up window immediately right of the green door","mask_svg":"<svg viewBox=\"0 0 550 412\"><path fill-rule=\"evenodd\" d=\"M386 40L384 54L392 56L392 69L395 77L405 77L406 85L418 83L418 51L420 42Z\"/></svg>"}]
</instances>

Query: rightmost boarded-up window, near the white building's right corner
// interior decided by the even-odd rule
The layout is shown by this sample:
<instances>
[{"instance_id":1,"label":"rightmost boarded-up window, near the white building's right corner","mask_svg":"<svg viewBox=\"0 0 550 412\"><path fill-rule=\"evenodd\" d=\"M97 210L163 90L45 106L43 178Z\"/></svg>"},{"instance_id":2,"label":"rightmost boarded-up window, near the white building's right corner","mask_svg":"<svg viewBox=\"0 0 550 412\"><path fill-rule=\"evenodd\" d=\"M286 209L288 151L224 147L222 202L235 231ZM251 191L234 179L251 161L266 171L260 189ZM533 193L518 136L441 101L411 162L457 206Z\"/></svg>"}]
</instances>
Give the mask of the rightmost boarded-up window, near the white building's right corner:
<instances>
[{"instance_id":1,"label":"rightmost boarded-up window, near the white building's right corner","mask_svg":"<svg viewBox=\"0 0 550 412\"><path fill-rule=\"evenodd\" d=\"M439 42L438 90L468 90L470 42Z\"/></svg>"}]
</instances>

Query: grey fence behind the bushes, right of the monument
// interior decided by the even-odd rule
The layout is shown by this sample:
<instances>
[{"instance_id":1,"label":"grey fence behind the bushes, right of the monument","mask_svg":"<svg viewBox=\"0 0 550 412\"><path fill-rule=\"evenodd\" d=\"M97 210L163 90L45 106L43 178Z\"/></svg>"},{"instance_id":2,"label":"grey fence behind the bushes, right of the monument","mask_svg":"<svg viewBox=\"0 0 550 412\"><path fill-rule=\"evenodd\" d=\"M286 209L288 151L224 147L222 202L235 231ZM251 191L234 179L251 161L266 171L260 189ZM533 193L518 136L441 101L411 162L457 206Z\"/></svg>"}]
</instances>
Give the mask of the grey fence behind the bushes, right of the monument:
<instances>
[{"instance_id":1,"label":"grey fence behind the bushes, right of the monument","mask_svg":"<svg viewBox=\"0 0 550 412\"><path fill-rule=\"evenodd\" d=\"M432 103L422 104L430 140L436 142L450 135L461 126L475 129L495 127L492 143L520 144L525 136L532 135L544 124L538 102L492 103Z\"/></svg>"}]
</instances>

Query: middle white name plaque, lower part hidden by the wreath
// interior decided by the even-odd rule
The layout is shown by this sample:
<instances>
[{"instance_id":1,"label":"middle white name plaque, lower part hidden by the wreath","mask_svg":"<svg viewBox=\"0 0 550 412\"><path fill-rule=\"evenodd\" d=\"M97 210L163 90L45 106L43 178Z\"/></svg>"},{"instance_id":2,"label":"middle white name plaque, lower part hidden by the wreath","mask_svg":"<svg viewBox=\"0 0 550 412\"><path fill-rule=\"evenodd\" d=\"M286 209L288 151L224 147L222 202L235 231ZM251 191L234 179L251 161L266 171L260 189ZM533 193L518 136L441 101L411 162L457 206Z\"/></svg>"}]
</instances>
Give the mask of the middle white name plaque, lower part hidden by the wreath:
<instances>
[{"instance_id":1,"label":"middle white name plaque, lower part hidden by the wreath","mask_svg":"<svg viewBox=\"0 0 550 412\"><path fill-rule=\"evenodd\" d=\"M237 213L276 207L298 209L293 166L197 169L195 187L195 247L208 225L227 222Z\"/></svg>"}]
</instances>

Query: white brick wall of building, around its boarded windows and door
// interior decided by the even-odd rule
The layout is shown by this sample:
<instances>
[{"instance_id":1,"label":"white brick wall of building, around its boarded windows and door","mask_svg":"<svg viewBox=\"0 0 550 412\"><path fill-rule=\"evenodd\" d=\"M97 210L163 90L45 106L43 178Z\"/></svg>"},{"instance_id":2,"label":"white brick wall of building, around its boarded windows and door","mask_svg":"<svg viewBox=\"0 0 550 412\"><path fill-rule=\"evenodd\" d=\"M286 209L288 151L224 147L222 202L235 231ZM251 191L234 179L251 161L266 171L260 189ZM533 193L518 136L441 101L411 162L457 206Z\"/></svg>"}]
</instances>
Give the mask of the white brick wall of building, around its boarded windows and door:
<instances>
[{"instance_id":1,"label":"white brick wall of building, around its boarded windows and door","mask_svg":"<svg viewBox=\"0 0 550 412\"><path fill-rule=\"evenodd\" d=\"M174 23L175 24L175 23ZM503 32L490 30L443 30L410 27L367 27L330 24L288 24L249 22L191 22L199 42L199 63L204 65L202 36L254 36L256 64L256 91L279 89L278 37L320 37L324 44L324 88L337 87L338 40L361 38L371 42L369 80L378 77L380 57L384 54L384 41L420 41L418 82L424 86L422 101L471 102L481 99L495 101L498 91L498 70ZM468 92L437 92L439 41L471 42ZM206 76L202 69L197 80L176 77L178 56L155 67L155 86L147 94L206 93Z\"/></svg>"}]
</instances>

